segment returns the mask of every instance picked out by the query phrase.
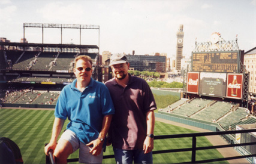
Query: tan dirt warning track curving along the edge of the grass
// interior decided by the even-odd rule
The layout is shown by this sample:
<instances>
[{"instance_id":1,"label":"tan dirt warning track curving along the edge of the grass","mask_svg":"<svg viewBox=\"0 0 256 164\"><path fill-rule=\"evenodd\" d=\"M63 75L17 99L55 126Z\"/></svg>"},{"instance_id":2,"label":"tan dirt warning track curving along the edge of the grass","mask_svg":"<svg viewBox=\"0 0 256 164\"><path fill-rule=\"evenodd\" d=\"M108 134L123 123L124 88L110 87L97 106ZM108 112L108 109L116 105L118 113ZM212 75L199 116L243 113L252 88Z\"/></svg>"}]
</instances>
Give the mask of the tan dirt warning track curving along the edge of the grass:
<instances>
[{"instance_id":1,"label":"tan dirt warning track curving along the edge of the grass","mask_svg":"<svg viewBox=\"0 0 256 164\"><path fill-rule=\"evenodd\" d=\"M173 121L170 121L170 120L160 119L158 117L155 117L155 120L160 121L160 122L164 122L164 123L169 123L171 125L180 126L182 128L192 129L192 130L198 131L198 132L210 132L209 130L206 130L206 129L201 129L201 128L197 128L195 126L190 126L190 125L185 125L183 123L173 122ZM213 146L228 144L219 135L207 136L206 138L210 141L210 143L213 144ZM241 154L239 154L236 150L234 150L233 147L217 148L217 150L219 151L219 153L222 154L223 157L241 156ZM233 159L233 160L228 160L228 162L232 163L232 164L233 163L234 164L235 163L236 164L238 164L238 163L249 163L248 160L246 160L246 159Z\"/></svg>"}]
</instances>

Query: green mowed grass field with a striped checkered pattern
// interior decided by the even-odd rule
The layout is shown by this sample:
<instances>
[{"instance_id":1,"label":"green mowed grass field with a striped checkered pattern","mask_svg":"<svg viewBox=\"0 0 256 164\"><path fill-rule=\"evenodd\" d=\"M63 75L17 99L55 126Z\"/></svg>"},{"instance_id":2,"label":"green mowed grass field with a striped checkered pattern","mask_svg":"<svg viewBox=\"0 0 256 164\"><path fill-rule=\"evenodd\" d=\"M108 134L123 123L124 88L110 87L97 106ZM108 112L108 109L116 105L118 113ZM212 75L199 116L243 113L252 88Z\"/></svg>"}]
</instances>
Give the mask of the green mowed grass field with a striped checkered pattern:
<instances>
[{"instance_id":1,"label":"green mowed grass field with a striped checkered pattern","mask_svg":"<svg viewBox=\"0 0 256 164\"><path fill-rule=\"evenodd\" d=\"M50 140L53 125L51 110L0 109L0 137L13 140L22 152L24 163L45 163L44 144ZM64 127L68 121L65 122ZM155 135L187 134L190 129L155 123ZM167 150L191 147L191 138L155 140L154 150ZM197 138L197 146L212 146L205 138ZM77 158L77 152L70 158ZM107 147L104 155L113 154L112 147ZM220 158L217 150L201 150L197 152L197 160ZM178 163L191 161L191 152L154 154L154 163ZM115 159L104 159L103 163L115 163ZM227 163L227 162L218 162Z\"/></svg>"}]
</instances>

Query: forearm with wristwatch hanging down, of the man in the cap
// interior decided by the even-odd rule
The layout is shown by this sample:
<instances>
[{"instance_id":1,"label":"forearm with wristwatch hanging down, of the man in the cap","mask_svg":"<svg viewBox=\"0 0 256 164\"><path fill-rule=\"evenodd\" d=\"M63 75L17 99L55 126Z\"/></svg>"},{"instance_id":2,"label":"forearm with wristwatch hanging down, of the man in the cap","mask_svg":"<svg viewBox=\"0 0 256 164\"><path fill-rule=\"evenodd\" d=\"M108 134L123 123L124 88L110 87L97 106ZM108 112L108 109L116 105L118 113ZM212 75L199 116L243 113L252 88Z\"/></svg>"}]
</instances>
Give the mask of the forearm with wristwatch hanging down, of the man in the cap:
<instances>
[{"instance_id":1,"label":"forearm with wristwatch hanging down, of the man in the cap","mask_svg":"<svg viewBox=\"0 0 256 164\"><path fill-rule=\"evenodd\" d=\"M155 128L155 113L153 110L146 113L147 134L153 134ZM149 153L153 150L153 138L146 137L143 144L144 153Z\"/></svg>"}]
</instances>

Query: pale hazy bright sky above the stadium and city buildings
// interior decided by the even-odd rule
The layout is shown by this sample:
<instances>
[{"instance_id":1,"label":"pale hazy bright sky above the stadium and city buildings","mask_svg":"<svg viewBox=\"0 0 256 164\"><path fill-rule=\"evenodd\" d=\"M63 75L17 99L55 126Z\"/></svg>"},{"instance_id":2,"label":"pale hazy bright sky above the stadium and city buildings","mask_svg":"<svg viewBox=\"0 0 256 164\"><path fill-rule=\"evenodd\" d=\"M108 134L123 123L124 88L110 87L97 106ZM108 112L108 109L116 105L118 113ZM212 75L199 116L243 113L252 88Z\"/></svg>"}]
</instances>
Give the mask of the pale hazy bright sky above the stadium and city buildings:
<instances>
[{"instance_id":1,"label":"pale hazy bright sky above the stadium and city buildings","mask_svg":"<svg viewBox=\"0 0 256 164\"><path fill-rule=\"evenodd\" d=\"M256 0L0 0L0 37L23 38L23 23L88 24L83 45L98 45L100 54L176 55L177 30L183 24L183 55L191 56L195 41L210 41L213 32L239 49L256 47ZM63 44L80 44L79 29L63 29ZM42 43L41 28L25 28L30 43ZM45 44L60 44L61 29L44 28Z\"/></svg>"}]
</instances>

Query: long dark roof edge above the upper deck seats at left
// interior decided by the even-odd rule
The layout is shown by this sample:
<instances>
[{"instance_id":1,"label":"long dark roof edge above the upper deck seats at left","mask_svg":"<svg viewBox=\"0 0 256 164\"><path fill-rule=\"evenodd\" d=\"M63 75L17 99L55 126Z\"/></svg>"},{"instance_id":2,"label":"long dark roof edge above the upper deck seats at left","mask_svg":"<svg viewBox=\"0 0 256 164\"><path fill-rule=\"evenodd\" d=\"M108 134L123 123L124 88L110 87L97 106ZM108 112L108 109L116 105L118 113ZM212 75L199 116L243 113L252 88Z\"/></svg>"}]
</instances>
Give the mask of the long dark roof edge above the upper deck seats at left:
<instances>
[{"instance_id":1,"label":"long dark roof edge above the upper deck seats at left","mask_svg":"<svg viewBox=\"0 0 256 164\"><path fill-rule=\"evenodd\" d=\"M0 45L13 47L59 47L59 48L91 48L98 49L97 45L74 45L74 44L34 44L34 43L19 43L19 42L0 42Z\"/></svg>"}]
</instances>

